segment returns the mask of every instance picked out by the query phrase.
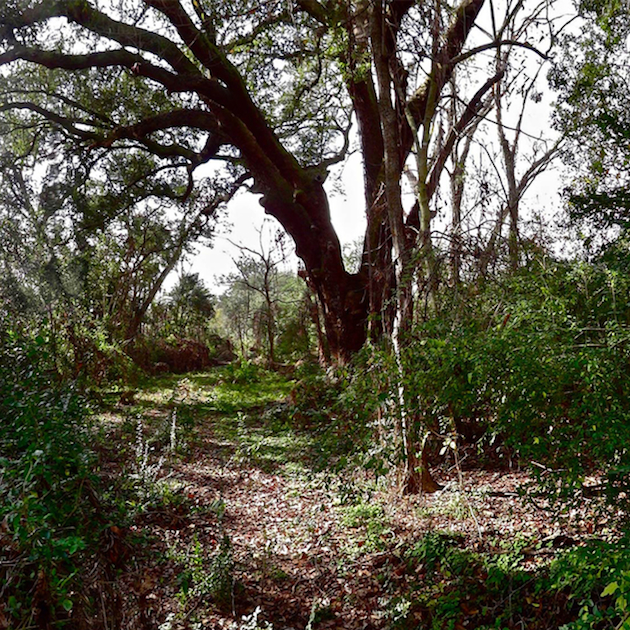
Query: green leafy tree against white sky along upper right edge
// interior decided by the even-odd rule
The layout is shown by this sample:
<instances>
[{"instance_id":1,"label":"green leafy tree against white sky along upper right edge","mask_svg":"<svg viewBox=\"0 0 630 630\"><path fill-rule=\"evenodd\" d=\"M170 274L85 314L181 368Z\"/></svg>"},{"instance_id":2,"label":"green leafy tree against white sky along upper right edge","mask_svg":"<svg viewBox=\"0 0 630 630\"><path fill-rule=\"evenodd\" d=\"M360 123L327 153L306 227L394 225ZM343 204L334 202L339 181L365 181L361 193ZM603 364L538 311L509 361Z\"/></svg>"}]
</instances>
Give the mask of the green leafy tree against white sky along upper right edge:
<instances>
[{"instance_id":1,"label":"green leafy tree against white sky along upper right edge","mask_svg":"<svg viewBox=\"0 0 630 630\"><path fill-rule=\"evenodd\" d=\"M556 124L570 140L564 159L577 173L566 190L571 218L601 244L630 227L630 12L612 0L579 6L583 28L564 38L551 78Z\"/></svg>"}]
</instances>

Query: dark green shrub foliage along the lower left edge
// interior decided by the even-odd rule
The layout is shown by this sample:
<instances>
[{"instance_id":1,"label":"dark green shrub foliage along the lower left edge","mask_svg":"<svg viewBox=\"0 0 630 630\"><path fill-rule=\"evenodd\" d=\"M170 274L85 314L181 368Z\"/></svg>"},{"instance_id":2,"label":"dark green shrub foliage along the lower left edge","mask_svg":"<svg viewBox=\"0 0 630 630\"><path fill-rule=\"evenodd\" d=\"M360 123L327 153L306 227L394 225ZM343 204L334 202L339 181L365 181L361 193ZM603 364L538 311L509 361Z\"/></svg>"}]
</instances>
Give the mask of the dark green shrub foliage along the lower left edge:
<instances>
[{"instance_id":1,"label":"dark green shrub foliage along the lower left edge","mask_svg":"<svg viewBox=\"0 0 630 630\"><path fill-rule=\"evenodd\" d=\"M55 380L41 335L0 331L0 531L2 582L13 627L67 619L87 553L106 523L86 403ZM44 615L42 617L42 615Z\"/></svg>"}]
</instances>

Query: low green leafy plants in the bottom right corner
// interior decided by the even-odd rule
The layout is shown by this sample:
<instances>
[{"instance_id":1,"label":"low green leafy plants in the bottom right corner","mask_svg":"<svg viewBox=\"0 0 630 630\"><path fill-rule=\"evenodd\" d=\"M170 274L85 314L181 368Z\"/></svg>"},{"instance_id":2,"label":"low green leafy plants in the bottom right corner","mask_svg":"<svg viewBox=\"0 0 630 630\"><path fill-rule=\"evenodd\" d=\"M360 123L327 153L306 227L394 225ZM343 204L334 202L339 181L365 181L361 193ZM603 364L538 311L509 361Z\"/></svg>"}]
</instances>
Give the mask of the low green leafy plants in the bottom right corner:
<instances>
[{"instance_id":1,"label":"low green leafy plants in the bottom right corner","mask_svg":"<svg viewBox=\"0 0 630 630\"><path fill-rule=\"evenodd\" d=\"M551 564L531 562L543 547L537 539L487 539L475 552L463 543L429 532L405 550L408 590L394 601L409 605L396 627L625 628L627 539L591 541ZM401 567L392 569L400 579Z\"/></svg>"}]
</instances>

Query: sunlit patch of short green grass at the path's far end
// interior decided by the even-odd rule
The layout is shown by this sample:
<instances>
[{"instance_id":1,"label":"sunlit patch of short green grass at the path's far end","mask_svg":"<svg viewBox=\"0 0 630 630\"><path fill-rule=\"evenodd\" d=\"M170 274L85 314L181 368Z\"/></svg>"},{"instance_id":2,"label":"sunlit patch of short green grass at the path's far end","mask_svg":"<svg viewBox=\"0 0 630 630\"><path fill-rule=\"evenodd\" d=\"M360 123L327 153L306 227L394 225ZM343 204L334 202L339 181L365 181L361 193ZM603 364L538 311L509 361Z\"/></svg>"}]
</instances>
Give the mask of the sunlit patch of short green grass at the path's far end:
<instances>
[{"instance_id":1,"label":"sunlit patch of short green grass at the path's far end","mask_svg":"<svg viewBox=\"0 0 630 630\"><path fill-rule=\"evenodd\" d=\"M135 443L138 423L142 423L157 454L168 444L175 413L180 443L200 444L209 430L225 458L265 472L286 468L289 476L303 473L313 453L321 449L312 433L292 427L284 401L294 382L262 368L255 369L255 378L246 380L235 378L234 372L228 366L185 377L148 378L133 392L131 405L120 403L119 388L103 391L105 408L121 419L117 439ZM247 374L251 377L251 366Z\"/></svg>"}]
</instances>

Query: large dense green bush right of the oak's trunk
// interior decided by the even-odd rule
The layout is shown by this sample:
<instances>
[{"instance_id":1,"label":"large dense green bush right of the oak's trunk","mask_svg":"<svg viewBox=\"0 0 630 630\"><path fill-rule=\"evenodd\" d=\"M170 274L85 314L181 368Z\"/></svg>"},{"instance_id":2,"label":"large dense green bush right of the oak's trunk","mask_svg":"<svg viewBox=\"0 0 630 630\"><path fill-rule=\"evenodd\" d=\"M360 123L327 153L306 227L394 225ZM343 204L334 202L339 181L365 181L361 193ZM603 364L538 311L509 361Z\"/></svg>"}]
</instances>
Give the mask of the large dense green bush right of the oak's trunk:
<instances>
[{"instance_id":1,"label":"large dense green bush right of the oak's trunk","mask_svg":"<svg viewBox=\"0 0 630 630\"><path fill-rule=\"evenodd\" d=\"M534 261L414 329L401 355L406 414L420 437L439 436L443 454L455 440L500 436L510 450L499 455L545 467L549 496L579 501L584 477L602 472L609 502L627 510L629 324L623 270ZM392 431L383 420L399 402L396 366L374 350L358 365L349 408L363 422L380 414L379 431ZM373 448L373 467L396 461Z\"/></svg>"}]
</instances>

